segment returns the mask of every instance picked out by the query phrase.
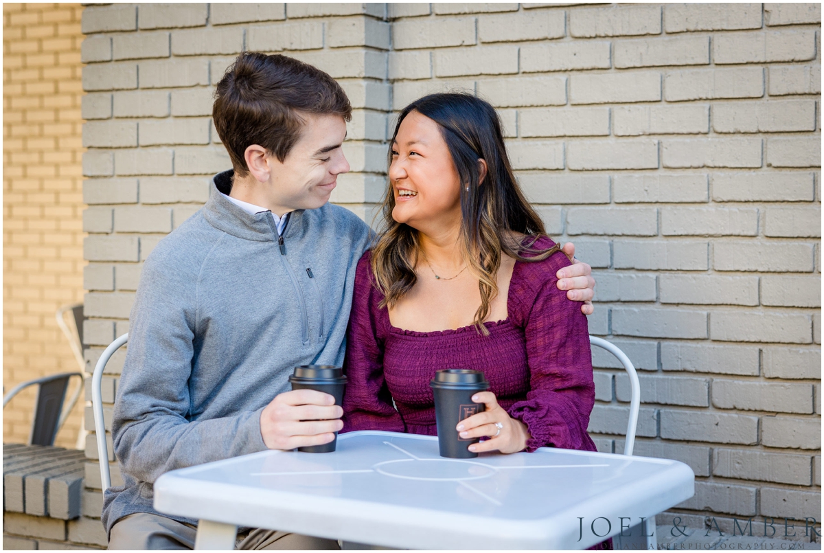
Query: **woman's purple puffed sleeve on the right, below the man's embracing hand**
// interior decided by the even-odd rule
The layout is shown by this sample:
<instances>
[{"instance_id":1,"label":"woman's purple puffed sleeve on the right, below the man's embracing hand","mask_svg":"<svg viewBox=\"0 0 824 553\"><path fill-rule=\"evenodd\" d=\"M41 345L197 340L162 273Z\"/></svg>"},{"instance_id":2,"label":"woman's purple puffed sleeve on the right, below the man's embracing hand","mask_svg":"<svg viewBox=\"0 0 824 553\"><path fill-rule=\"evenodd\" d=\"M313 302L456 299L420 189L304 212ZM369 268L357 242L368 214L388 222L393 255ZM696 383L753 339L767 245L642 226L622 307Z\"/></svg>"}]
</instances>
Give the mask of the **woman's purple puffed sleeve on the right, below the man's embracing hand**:
<instances>
[{"instance_id":1,"label":"woman's purple puffed sleeve on the right, below the man's embracing hand","mask_svg":"<svg viewBox=\"0 0 824 553\"><path fill-rule=\"evenodd\" d=\"M581 303L566 297L556 286L558 269L569 265L563 253L528 263L519 285L530 294L520 295L519 306L527 341L530 391L508 412L527 425L531 438L526 451L553 447L595 451L587 433L595 403L592 353L587 317Z\"/></svg>"}]
</instances>

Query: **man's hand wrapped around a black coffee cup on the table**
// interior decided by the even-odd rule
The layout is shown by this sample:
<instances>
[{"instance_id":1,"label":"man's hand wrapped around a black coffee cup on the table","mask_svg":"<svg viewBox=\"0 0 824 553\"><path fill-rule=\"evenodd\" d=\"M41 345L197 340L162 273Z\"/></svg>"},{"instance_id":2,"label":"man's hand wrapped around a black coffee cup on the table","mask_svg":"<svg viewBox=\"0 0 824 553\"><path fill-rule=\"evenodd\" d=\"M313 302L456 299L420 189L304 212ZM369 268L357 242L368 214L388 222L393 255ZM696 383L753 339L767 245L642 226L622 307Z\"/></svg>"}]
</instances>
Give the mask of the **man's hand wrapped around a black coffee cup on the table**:
<instances>
[{"instance_id":1,"label":"man's hand wrapped around a black coffee cup on the table","mask_svg":"<svg viewBox=\"0 0 824 553\"><path fill-rule=\"evenodd\" d=\"M260 435L269 449L294 449L330 443L344 428L344 410L322 391L286 391L260 413Z\"/></svg>"}]
</instances>

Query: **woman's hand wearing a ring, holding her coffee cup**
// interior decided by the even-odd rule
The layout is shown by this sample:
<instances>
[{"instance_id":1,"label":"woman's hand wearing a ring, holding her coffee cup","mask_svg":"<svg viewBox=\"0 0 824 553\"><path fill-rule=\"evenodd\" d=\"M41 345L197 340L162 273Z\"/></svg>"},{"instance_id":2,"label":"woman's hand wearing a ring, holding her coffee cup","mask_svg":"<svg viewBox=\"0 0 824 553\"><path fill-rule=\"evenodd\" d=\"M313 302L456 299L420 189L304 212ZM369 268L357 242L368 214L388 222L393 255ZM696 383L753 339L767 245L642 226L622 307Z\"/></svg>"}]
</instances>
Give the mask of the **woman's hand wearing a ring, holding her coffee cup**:
<instances>
[{"instance_id":1,"label":"woman's hand wearing a ring, holding her coffee cup","mask_svg":"<svg viewBox=\"0 0 824 553\"><path fill-rule=\"evenodd\" d=\"M470 445L471 452L515 453L527 447L527 440L531 438L527 425L518 419L513 419L498 405L494 393L480 391L472 396L475 403L484 403L486 410L461 420L456 430L461 438L480 438L489 436L485 442Z\"/></svg>"}]
</instances>

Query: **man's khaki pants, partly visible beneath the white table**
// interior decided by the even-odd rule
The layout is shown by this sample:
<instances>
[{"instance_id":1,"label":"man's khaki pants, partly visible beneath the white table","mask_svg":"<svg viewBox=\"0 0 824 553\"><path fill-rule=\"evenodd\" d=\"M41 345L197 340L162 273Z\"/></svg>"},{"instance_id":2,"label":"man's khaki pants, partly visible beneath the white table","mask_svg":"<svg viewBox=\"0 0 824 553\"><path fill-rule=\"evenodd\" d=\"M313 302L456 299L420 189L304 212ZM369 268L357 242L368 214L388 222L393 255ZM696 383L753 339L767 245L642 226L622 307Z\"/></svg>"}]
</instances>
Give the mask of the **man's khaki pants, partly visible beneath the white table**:
<instances>
[{"instance_id":1,"label":"man's khaki pants, partly visible beneath the white table","mask_svg":"<svg viewBox=\"0 0 824 553\"><path fill-rule=\"evenodd\" d=\"M194 549L198 528L152 513L134 513L111 527L109 549L157 550ZM322 537L302 536L257 528L237 535L236 550L319 549L338 550L338 542Z\"/></svg>"}]
</instances>

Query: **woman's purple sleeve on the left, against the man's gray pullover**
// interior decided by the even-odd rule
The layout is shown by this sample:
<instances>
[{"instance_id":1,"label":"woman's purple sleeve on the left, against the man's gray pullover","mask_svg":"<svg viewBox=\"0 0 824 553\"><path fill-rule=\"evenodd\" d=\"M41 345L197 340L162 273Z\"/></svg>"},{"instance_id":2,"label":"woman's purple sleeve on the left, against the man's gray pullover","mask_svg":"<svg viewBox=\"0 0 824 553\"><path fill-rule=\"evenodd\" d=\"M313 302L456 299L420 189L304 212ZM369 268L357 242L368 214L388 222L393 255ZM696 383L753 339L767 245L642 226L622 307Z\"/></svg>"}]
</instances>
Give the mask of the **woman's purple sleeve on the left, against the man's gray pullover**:
<instances>
[{"instance_id":1,"label":"woman's purple sleeve on the left, against the man's gray pullover","mask_svg":"<svg viewBox=\"0 0 824 553\"><path fill-rule=\"evenodd\" d=\"M369 252L358 261L346 335L344 429L405 432L383 377L382 294L372 285Z\"/></svg>"}]
</instances>

